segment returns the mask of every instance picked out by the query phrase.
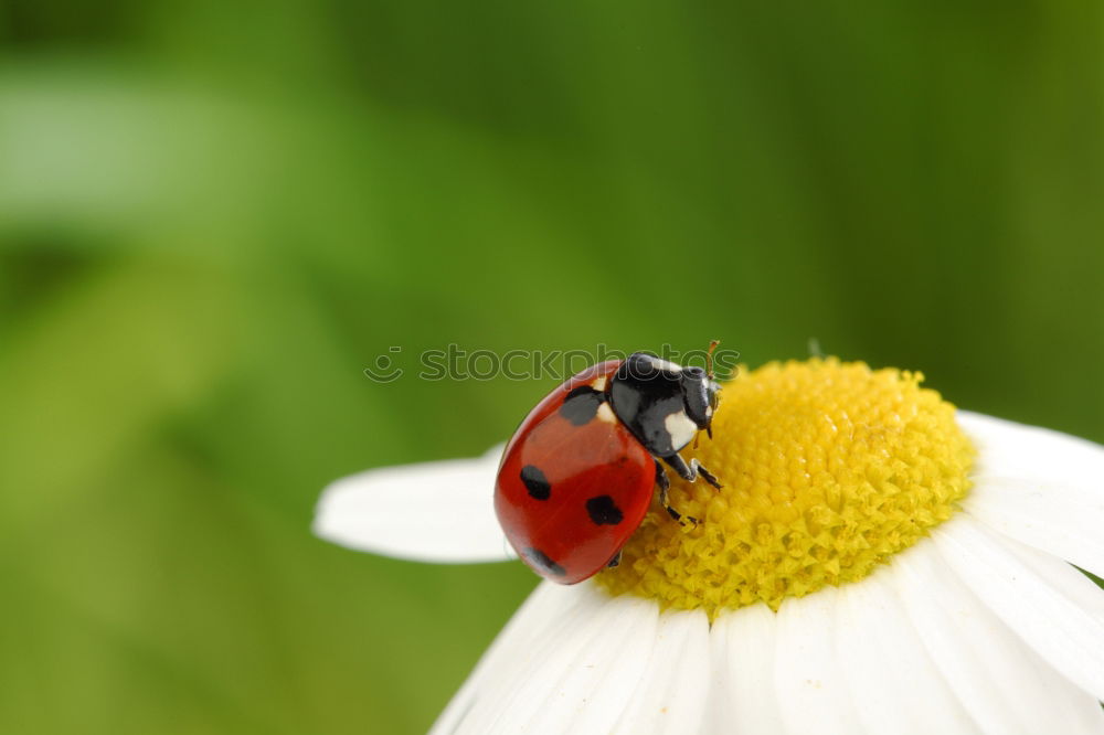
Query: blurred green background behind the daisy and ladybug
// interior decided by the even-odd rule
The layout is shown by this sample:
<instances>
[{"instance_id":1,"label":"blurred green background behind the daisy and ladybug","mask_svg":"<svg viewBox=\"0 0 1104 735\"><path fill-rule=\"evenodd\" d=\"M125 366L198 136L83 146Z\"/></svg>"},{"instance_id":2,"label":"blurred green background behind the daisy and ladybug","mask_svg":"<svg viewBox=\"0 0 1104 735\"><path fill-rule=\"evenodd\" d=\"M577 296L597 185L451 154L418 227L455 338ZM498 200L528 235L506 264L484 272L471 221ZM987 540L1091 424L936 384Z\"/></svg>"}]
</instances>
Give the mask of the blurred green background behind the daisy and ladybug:
<instances>
[{"instance_id":1,"label":"blurred green background behind the daisy and ladybug","mask_svg":"<svg viewBox=\"0 0 1104 735\"><path fill-rule=\"evenodd\" d=\"M464 349L919 369L1104 440L1100 3L7 0L0 732L420 733L534 586L309 534Z\"/></svg>"}]
</instances>

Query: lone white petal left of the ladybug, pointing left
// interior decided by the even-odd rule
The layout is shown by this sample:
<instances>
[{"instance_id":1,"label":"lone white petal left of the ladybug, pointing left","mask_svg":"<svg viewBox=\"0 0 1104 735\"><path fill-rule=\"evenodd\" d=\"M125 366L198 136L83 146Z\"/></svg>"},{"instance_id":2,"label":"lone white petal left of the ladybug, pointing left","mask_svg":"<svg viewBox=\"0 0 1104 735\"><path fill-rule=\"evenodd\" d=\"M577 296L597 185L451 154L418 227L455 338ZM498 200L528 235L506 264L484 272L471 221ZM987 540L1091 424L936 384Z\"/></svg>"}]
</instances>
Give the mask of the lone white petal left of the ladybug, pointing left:
<instances>
[{"instance_id":1,"label":"lone white petal left of the ladybug, pointing left","mask_svg":"<svg viewBox=\"0 0 1104 735\"><path fill-rule=\"evenodd\" d=\"M420 562L499 562L514 556L495 515L502 447L475 459L382 467L322 492L314 531L333 543Z\"/></svg>"}]
</instances>

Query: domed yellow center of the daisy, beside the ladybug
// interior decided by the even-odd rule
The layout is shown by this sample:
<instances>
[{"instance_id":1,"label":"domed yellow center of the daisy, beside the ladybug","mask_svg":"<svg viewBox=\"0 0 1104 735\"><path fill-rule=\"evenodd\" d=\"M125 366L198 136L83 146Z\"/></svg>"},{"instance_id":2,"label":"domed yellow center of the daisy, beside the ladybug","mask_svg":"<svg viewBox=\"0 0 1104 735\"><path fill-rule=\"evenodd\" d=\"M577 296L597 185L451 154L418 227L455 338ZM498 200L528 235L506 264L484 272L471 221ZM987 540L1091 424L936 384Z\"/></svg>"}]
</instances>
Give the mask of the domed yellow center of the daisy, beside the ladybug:
<instances>
[{"instance_id":1,"label":"domed yellow center of the daisy, beside the ladybug","mask_svg":"<svg viewBox=\"0 0 1104 735\"><path fill-rule=\"evenodd\" d=\"M713 439L682 452L724 487L672 477L671 504L698 524L654 504L598 584L712 618L867 576L947 520L969 489L973 447L954 406L921 381L835 359L733 380Z\"/></svg>"}]
</instances>

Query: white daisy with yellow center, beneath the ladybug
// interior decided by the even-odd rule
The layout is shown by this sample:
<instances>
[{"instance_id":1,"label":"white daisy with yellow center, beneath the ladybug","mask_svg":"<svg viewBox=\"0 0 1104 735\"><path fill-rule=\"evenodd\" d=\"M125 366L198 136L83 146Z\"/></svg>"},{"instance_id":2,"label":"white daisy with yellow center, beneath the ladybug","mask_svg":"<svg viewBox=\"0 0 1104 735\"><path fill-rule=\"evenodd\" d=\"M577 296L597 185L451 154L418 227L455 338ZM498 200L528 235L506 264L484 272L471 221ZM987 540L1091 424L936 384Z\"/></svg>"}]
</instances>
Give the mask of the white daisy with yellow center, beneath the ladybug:
<instances>
[{"instance_id":1,"label":"white daisy with yellow center, beneath the ladybug","mask_svg":"<svg viewBox=\"0 0 1104 735\"><path fill-rule=\"evenodd\" d=\"M1104 733L1104 447L837 360L730 382L722 480L672 478L619 566L538 585L433 733ZM500 448L327 488L315 531L510 556ZM411 519L418 519L412 528Z\"/></svg>"}]
</instances>

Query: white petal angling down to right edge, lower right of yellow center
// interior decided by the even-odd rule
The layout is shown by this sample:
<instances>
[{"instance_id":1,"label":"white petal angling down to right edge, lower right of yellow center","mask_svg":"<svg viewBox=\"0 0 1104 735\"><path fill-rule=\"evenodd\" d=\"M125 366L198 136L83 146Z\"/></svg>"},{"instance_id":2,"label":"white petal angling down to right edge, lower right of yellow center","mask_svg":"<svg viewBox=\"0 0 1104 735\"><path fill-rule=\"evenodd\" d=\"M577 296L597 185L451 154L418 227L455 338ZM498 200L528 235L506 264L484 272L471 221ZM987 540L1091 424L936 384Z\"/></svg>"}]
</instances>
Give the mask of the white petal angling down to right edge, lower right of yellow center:
<instances>
[{"instance_id":1,"label":"white petal angling down to right edge, lower right of yellow center","mask_svg":"<svg viewBox=\"0 0 1104 735\"><path fill-rule=\"evenodd\" d=\"M997 617L1070 681L1104 699L1104 592L1061 560L968 516L932 537Z\"/></svg>"}]
</instances>

